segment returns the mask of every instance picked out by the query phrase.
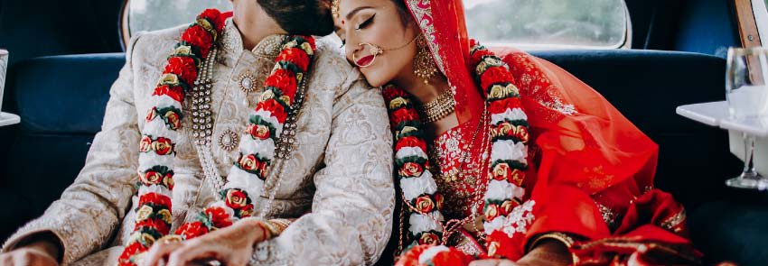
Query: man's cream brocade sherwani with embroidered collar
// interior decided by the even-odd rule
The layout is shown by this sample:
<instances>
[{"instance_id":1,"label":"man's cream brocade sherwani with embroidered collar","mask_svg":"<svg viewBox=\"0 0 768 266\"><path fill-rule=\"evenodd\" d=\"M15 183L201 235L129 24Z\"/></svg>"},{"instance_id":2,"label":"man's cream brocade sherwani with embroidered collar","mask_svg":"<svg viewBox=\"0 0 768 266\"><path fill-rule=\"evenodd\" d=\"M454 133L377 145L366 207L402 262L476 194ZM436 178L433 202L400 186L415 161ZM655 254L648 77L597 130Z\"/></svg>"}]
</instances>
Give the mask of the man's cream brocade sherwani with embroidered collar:
<instances>
[{"instance_id":1,"label":"man's cream brocade sherwani with embroidered collar","mask_svg":"<svg viewBox=\"0 0 768 266\"><path fill-rule=\"evenodd\" d=\"M51 231L64 245L64 264L115 263L135 225L138 143L151 107L149 98L185 28L132 39L85 167L61 199L14 234L5 250L25 236ZM237 147L260 94L241 88L248 82L261 88L275 65L282 38L273 35L253 50L243 50L231 20L220 38L213 69L211 154L222 176L238 158L237 149L231 147ZM317 47L296 123L294 151L284 163L276 159L272 164L284 169L267 217L298 219L259 246L268 254L263 264L370 264L389 240L395 191L384 101L332 41L319 39ZM190 120L183 120L176 147L173 228L192 220L218 197L203 180ZM256 199L257 211L266 197Z\"/></svg>"}]
</instances>

